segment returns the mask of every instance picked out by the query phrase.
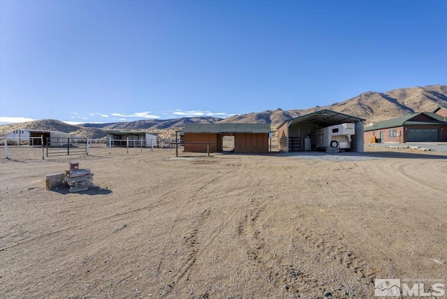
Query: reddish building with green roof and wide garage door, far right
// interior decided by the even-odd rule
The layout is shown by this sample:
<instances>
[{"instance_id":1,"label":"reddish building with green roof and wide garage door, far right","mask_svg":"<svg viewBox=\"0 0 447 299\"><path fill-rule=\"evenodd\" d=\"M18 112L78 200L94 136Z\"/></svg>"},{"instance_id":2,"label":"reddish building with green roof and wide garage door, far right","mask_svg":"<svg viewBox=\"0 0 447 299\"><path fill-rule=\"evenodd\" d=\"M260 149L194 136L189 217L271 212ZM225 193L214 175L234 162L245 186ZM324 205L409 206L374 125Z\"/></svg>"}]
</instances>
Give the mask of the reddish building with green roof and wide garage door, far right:
<instances>
[{"instance_id":1,"label":"reddish building with green roof and wide garage door, far right","mask_svg":"<svg viewBox=\"0 0 447 299\"><path fill-rule=\"evenodd\" d=\"M418 112L365 128L365 142L410 143L447 141L447 121L434 112Z\"/></svg>"}]
</instances>

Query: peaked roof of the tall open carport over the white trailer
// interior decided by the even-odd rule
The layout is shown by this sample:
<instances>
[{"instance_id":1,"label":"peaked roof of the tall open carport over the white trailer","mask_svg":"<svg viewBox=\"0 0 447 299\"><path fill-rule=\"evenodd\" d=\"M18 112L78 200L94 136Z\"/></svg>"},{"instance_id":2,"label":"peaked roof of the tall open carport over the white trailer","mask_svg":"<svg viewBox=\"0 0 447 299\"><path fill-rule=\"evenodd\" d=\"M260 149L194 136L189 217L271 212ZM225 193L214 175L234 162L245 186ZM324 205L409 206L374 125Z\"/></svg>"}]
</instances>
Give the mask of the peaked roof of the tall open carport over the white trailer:
<instances>
[{"instance_id":1,"label":"peaked roof of the tall open carport over the white trailer","mask_svg":"<svg viewBox=\"0 0 447 299\"><path fill-rule=\"evenodd\" d=\"M300 115L299 117L295 117L293 119L287 119L282 124L280 124L278 128L284 126L284 124L286 123L288 123L288 126L299 122L311 122L312 124L318 124L321 126L332 126L335 124L343 124L344 122L359 122L365 120L366 119L362 119L353 115L347 115L341 112L323 109L309 113L307 115Z\"/></svg>"}]
</instances>

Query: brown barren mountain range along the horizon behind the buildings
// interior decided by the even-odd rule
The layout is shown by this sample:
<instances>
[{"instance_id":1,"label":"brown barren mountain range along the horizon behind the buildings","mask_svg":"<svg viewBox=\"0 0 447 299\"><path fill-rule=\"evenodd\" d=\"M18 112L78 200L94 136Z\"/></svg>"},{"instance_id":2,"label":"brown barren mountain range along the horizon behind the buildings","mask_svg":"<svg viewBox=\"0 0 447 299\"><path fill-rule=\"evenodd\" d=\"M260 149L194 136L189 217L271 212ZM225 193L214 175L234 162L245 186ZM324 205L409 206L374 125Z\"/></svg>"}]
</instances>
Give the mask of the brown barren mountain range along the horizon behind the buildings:
<instances>
[{"instance_id":1,"label":"brown barren mountain range along the horizon behind the buildings","mask_svg":"<svg viewBox=\"0 0 447 299\"><path fill-rule=\"evenodd\" d=\"M286 119L306 115L321 109L330 109L347 115L355 115L378 122L384 119L400 117L413 112L431 112L439 105L447 105L447 85L428 85L425 87L409 87L394 89L389 92L363 92L358 96L333 103L332 105L314 106L296 110L265 110L244 115L234 115L226 119L217 117L182 117L176 119L144 119L134 122L115 122L105 124L70 125L56 119L42 119L34 122L5 124L0 126L0 135L4 136L15 129L41 129L73 133L75 136L101 138L108 131L149 131L152 133L172 133L174 129L183 128L187 124L212 123L270 123L272 129ZM168 135L170 135L168 133Z\"/></svg>"}]
</instances>

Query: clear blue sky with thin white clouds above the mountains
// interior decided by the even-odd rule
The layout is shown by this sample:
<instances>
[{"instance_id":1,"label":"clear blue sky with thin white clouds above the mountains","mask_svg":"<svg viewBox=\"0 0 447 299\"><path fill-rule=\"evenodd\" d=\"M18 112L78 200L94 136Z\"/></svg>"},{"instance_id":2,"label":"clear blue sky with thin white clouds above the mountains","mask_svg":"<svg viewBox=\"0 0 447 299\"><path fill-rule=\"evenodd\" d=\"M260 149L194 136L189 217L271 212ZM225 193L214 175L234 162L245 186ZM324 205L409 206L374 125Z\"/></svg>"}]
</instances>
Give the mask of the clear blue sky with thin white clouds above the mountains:
<instances>
[{"instance_id":1,"label":"clear blue sky with thin white clouds above the mountains","mask_svg":"<svg viewBox=\"0 0 447 299\"><path fill-rule=\"evenodd\" d=\"M0 121L300 109L446 84L447 1L0 1Z\"/></svg>"}]
</instances>

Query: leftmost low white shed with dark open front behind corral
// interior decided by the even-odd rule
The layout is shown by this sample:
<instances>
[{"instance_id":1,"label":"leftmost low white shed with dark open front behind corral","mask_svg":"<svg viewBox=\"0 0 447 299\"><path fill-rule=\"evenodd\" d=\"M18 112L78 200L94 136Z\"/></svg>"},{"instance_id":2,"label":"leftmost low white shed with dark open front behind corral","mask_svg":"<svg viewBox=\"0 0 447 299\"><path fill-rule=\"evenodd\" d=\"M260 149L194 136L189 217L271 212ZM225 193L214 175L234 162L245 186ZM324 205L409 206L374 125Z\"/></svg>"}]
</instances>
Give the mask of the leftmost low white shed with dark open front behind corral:
<instances>
[{"instance_id":1,"label":"leftmost low white shed with dark open front behind corral","mask_svg":"<svg viewBox=\"0 0 447 299\"><path fill-rule=\"evenodd\" d=\"M70 133L61 131L29 129L17 129L8 133L6 136L8 143L15 143L17 145L27 144L32 146L42 146L41 137L43 137L43 145L47 145L48 140L50 140L50 146L64 146L67 145L68 138L73 138L74 136Z\"/></svg>"}]
</instances>

